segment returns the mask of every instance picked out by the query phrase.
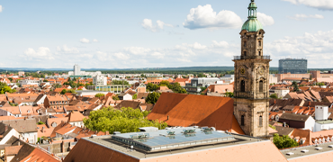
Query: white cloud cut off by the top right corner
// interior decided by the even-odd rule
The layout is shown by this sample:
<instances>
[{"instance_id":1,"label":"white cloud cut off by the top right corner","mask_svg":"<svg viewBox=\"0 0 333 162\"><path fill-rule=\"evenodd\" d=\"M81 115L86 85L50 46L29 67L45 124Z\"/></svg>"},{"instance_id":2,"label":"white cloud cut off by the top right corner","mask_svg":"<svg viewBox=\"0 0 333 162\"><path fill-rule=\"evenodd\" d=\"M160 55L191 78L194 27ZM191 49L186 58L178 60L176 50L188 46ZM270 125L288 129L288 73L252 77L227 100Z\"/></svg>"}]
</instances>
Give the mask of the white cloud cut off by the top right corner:
<instances>
[{"instance_id":1,"label":"white cloud cut off by the top right corner","mask_svg":"<svg viewBox=\"0 0 333 162\"><path fill-rule=\"evenodd\" d=\"M304 4L320 10L333 10L332 0L283 0L292 4Z\"/></svg>"}]
</instances>

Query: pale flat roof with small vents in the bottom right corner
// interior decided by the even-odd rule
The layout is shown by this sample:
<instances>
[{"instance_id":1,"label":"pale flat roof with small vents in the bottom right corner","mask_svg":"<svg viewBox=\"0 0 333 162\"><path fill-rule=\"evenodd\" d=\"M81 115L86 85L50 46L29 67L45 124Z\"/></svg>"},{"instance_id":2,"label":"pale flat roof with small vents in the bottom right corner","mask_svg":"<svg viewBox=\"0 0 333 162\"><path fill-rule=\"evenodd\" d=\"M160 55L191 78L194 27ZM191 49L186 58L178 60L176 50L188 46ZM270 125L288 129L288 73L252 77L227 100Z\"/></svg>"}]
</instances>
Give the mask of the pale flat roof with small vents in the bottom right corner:
<instances>
[{"instance_id":1,"label":"pale flat roof with small vents in the bottom right corner","mask_svg":"<svg viewBox=\"0 0 333 162\"><path fill-rule=\"evenodd\" d=\"M284 155L284 157L286 157L288 160L290 160L293 158L313 156L316 154L332 152L333 148L330 148L329 146L333 147L333 142L322 143L322 144L318 144L318 145L311 145L311 146L306 146L306 147L284 149L284 150L281 150L281 153ZM292 154L290 154L290 153L292 153ZM288 155L288 154L290 154L290 155Z\"/></svg>"}]
</instances>

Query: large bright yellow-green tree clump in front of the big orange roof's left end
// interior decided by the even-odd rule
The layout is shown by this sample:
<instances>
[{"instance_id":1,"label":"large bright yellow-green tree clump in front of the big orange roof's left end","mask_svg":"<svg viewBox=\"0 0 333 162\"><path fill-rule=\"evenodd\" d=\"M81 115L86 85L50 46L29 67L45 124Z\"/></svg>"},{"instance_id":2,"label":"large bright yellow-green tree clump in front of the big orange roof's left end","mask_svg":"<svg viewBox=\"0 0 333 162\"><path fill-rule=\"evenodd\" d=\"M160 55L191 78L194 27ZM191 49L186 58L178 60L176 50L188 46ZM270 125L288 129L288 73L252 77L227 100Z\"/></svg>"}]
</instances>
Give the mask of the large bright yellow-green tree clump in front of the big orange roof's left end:
<instances>
[{"instance_id":1,"label":"large bright yellow-green tree clump in front of the big orange roof's left end","mask_svg":"<svg viewBox=\"0 0 333 162\"><path fill-rule=\"evenodd\" d=\"M121 131L137 132L141 127L157 127L165 129L164 121L149 121L146 116L149 112L141 112L139 109L121 108L116 110L111 107L90 112L89 118L84 119L85 127L97 131Z\"/></svg>"}]
</instances>

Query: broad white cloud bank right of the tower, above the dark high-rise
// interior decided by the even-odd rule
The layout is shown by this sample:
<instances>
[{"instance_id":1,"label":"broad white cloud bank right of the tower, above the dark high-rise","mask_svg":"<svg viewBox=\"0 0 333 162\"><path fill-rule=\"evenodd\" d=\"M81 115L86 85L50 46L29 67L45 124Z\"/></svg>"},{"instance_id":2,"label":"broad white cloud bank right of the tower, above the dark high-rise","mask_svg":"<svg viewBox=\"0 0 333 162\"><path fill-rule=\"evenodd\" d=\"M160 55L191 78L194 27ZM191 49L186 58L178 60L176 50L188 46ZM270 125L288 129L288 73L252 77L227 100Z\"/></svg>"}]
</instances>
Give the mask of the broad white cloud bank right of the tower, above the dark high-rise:
<instances>
[{"instance_id":1,"label":"broad white cloud bank right of the tower, above the dark high-rise","mask_svg":"<svg viewBox=\"0 0 333 162\"><path fill-rule=\"evenodd\" d=\"M331 67L333 60L333 30L304 33L266 43L266 54L274 58L308 58L311 67Z\"/></svg>"}]
</instances>

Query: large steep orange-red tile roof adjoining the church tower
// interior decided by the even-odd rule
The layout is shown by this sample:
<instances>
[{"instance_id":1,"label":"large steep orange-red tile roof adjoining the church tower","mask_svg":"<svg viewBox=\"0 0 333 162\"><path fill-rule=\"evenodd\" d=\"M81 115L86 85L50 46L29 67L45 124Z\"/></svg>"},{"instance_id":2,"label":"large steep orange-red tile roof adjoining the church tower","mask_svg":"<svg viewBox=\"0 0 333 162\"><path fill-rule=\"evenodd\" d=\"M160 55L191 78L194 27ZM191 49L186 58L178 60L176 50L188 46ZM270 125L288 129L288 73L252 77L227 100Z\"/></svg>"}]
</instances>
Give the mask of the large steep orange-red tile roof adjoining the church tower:
<instances>
[{"instance_id":1,"label":"large steep orange-red tile roof adjoining the church tower","mask_svg":"<svg viewBox=\"0 0 333 162\"><path fill-rule=\"evenodd\" d=\"M148 120L166 121L169 126L198 125L240 131L233 110L233 100L228 97L164 93L148 114Z\"/></svg>"}]
</instances>

